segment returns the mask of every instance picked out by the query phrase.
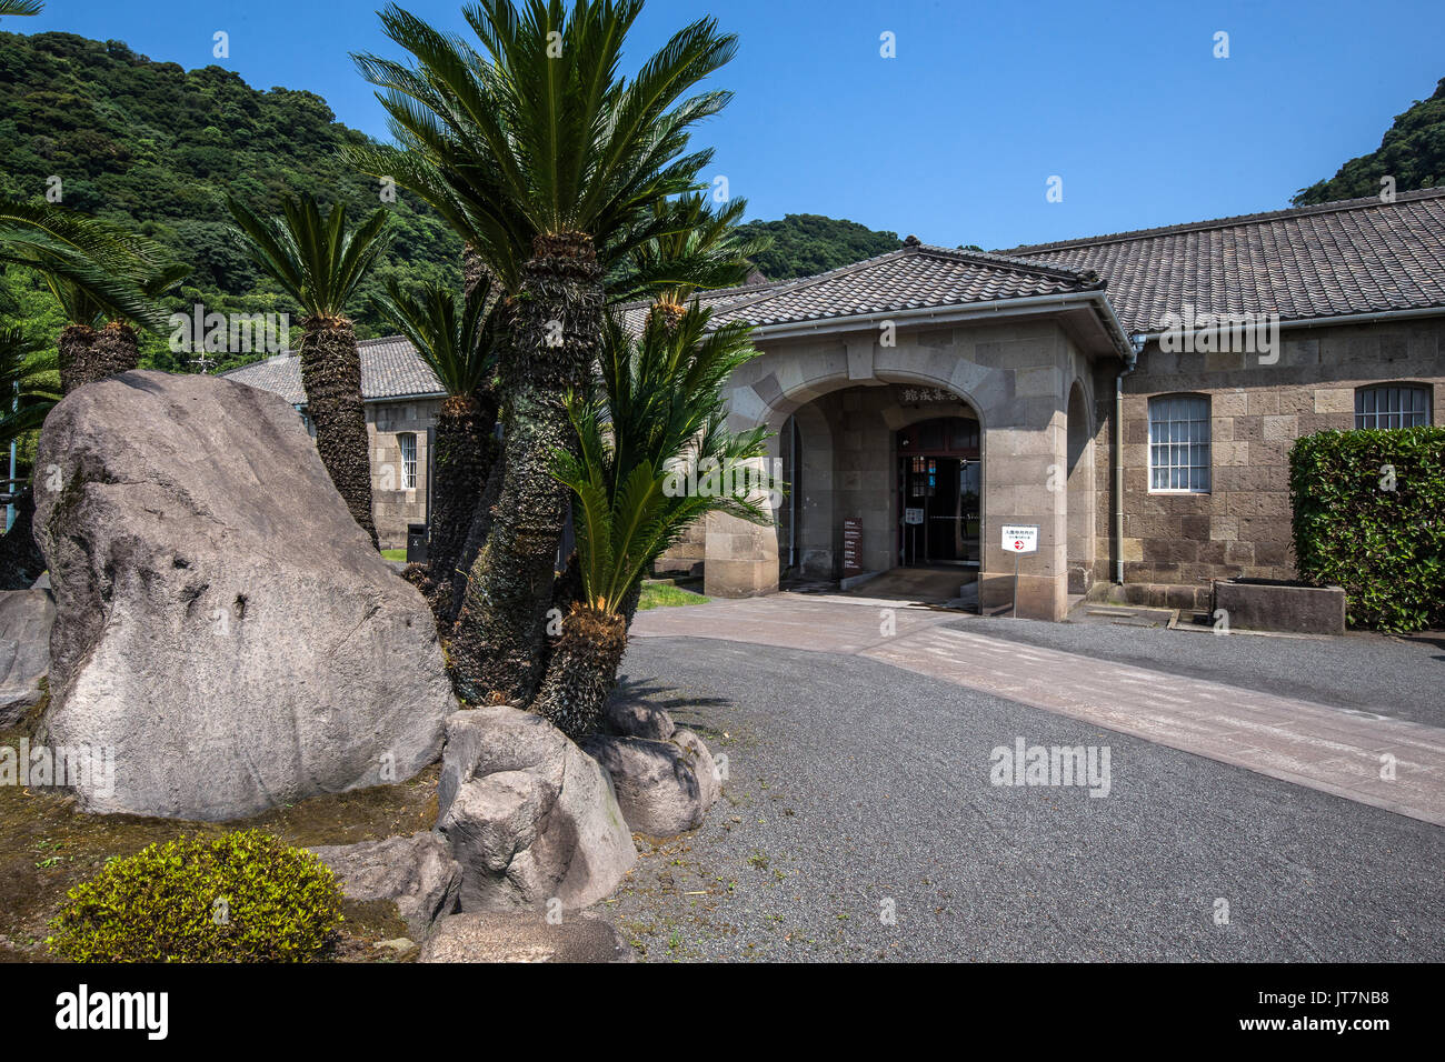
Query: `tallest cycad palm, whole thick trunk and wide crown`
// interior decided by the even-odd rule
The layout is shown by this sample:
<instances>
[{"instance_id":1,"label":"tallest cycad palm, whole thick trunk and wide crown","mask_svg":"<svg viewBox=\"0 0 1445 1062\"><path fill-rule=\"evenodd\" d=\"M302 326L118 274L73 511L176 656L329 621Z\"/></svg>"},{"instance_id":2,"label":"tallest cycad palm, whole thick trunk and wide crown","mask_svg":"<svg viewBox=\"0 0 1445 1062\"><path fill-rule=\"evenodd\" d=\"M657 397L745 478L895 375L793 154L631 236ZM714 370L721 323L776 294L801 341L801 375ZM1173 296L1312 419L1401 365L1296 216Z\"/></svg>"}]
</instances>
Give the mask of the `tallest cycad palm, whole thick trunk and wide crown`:
<instances>
[{"instance_id":1,"label":"tallest cycad palm, whole thick trunk and wide crown","mask_svg":"<svg viewBox=\"0 0 1445 1062\"><path fill-rule=\"evenodd\" d=\"M451 653L464 696L530 701L566 510L549 454L571 445L564 396L597 357L603 277L676 224L657 199L695 191L711 152L691 127L725 92L685 98L736 38L712 19L676 33L627 81L642 0L481 0L464 17L480 52L389 6L383 27L415 59L358 56L406 150L358 150L363 169L425 198L514 293L504 481L467 584Z\"/></svg>"}]
</instances>

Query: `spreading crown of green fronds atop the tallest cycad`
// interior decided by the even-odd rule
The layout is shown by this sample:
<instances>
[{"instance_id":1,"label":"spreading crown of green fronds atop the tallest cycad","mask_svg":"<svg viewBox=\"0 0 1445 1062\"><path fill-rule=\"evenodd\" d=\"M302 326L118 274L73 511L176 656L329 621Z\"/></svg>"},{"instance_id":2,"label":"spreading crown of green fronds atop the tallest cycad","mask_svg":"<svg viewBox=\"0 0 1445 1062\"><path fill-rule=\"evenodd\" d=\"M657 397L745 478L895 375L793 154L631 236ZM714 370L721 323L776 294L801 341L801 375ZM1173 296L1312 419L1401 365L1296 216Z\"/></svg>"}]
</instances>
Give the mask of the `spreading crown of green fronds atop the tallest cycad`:
<instances>
[{"instance_id":1,"label":"spreading crown of green fronds atop the tallest cycad","mask_svg":"<svg viewBox=\"0 0 1445 1062\"><path fill-rule=\"evenodd\" d=\"M442 212L509 290L536 236L587 233L611 272L655 234L639 223L659 199L698 189L711 153L689 153L688 136L728 95L688 92L737 40L701 19L629 81L620 68L640 10L642 0L478 0L462 9L474 46L389 4L383 32L409 62L354 56L402 153L423 156L393 176ZM394 163L353 157L370 173Z\"/></svg>"}]
</instances>

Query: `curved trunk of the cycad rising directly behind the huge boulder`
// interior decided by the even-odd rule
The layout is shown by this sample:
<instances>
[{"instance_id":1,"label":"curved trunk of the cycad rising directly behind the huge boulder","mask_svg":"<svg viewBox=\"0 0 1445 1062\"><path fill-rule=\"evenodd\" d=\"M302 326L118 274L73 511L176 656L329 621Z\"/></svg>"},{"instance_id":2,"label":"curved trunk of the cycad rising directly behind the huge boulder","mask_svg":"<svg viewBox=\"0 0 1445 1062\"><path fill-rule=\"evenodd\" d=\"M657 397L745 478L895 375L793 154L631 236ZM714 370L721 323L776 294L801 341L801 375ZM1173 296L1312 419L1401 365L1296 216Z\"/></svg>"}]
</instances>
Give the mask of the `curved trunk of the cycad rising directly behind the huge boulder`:
<instances>
[{"instance_id":1,"label":"curved trunk of the cycad rising directly behind the huge boulder","mask_svg":"<svg viewBox=\"0 0 1445 1062\"><path fill-rule=\"evenodd\" d=\"M345 318L301 322L301 383L306 413L316 426L316 449L351 519L377 546L371 516L371 444L361 403L361 355Z\"/></svg>"}]
</instances>

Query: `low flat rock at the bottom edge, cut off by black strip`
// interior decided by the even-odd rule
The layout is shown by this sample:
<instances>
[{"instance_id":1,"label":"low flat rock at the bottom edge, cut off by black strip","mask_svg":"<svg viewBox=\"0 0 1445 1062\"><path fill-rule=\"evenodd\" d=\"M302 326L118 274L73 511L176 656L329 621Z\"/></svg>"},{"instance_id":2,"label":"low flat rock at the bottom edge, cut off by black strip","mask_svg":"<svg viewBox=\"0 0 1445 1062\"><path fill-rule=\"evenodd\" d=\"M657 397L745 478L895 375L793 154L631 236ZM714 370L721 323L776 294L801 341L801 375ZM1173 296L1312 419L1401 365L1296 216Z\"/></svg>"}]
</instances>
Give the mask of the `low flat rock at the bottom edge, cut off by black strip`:
<instances>
[{"instance_id":1,"label":"low flat rock at the bottom edge, cut off by black strip","mask_svg":"<svg viewBox=\"0 0 1445 1062\"><path fill-rule=\"evenodd\" d=\"M473 912L436 923L418 962L631 962L611 922L568 915L556 925L529 910Z\"/></svg>"}]
</instances>

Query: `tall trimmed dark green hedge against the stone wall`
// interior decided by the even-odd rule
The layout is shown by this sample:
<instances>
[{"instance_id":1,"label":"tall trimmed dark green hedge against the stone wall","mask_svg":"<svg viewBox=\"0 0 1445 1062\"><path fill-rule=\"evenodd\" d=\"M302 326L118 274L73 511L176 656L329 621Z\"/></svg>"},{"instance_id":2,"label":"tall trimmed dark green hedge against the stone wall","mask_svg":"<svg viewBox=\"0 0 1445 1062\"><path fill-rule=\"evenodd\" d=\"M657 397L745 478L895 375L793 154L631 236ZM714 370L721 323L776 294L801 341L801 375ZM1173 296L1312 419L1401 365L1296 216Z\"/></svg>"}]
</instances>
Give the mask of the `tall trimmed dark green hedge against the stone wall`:
<instances>
[{"instance_id":1,"label":"tall trimmed dark green hedge against the stone wall","mask_svg":"<svg viewBox=\"0 0 1445 1062\"><path fill-rule=\"evenodd\" d=\"M1355 627L1445 626L1445 428L1319 432L1289 452L1299 577Z\"/></svg>"}]
</instances>

